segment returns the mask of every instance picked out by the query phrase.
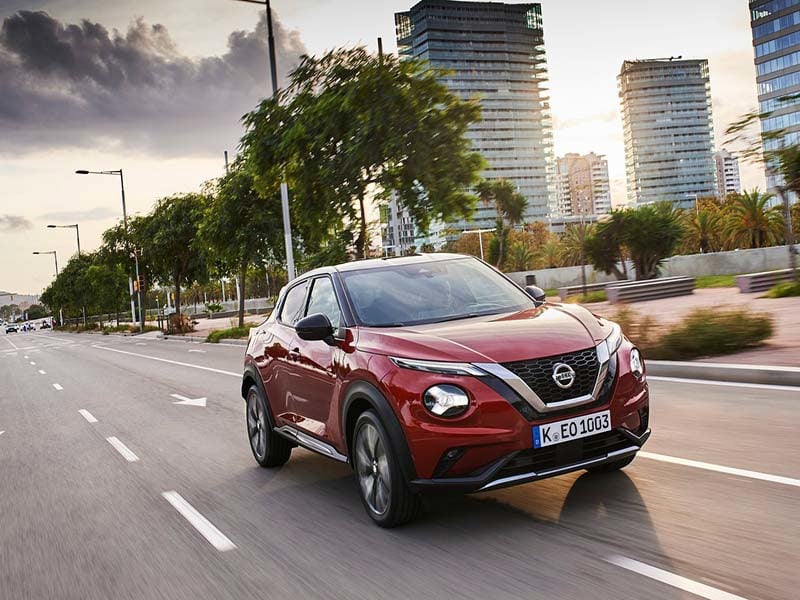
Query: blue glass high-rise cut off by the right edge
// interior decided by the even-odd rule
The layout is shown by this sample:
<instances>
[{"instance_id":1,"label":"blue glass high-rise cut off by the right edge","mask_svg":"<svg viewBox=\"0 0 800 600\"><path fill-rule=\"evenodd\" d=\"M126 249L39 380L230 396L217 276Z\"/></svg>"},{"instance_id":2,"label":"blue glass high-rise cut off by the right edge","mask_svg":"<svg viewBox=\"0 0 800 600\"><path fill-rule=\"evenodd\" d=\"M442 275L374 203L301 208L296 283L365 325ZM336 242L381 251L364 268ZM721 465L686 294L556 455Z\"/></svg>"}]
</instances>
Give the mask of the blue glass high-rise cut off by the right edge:
<instances>
[{"instance_id":1,"label":"blue glass high-rise cut off by the right edge","mask_svg":"<svg viewBox=\"0 0 800 600\"><path fill-rule=\"evenodd\" d=\"M800 143L800 0L750 0L750 27L765 150ZM767 188L780 183L767 170ZM794 198L793 198L794 199ZM777 200L776 200L777 201Z\"/></svg>"}]
</instances>

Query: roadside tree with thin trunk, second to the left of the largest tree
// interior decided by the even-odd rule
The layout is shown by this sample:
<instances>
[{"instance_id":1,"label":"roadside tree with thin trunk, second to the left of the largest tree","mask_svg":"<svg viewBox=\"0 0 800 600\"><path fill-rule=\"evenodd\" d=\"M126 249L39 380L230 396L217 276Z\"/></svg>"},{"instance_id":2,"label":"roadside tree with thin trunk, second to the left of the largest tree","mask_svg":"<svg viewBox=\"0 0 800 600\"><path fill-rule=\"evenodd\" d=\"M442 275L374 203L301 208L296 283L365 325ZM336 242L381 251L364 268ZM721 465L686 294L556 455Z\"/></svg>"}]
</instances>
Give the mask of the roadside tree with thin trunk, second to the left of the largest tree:
<instances>
[{"instance_id":1,"label":"roadside tree with thin trunk, second to the left of the largest tree","mask_svg":"<svg viewBox=\"0 0 800 600\"><path fill-rule=\"evenodd\" d=\"M136 237L142 255L156 279L175 287L175 310L181 312L181 286L207 277L206 249L198 232L208 198L203 194L179 194L162 198L137 224ZM234 232L231 232L233 235Z\"/></svg>"}]
</instances>

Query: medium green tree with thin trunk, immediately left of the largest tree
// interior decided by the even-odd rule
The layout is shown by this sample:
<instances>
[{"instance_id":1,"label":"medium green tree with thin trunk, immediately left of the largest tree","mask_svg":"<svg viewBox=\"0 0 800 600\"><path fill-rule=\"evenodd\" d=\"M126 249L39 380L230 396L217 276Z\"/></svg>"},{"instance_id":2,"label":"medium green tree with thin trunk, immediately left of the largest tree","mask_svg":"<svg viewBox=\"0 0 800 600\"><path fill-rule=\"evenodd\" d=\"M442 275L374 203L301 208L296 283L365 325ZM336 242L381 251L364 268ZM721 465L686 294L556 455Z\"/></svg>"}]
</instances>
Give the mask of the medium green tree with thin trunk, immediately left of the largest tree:
<instances>
[{"instance_id":1,"label":"medium green tree with thin trunk, immediately left of the largest tree","mask_svg":"<svg viewBox=\"0 0 800 600\"><path fill-rule=\"evenodd\" d=\"M239 278L239 327L244 326L247 270L283 253L281 203L277 194L263 198L255 180L237 163L222 177L208 202L199 236L222 270Z\"/></svg>"}]
</instances>

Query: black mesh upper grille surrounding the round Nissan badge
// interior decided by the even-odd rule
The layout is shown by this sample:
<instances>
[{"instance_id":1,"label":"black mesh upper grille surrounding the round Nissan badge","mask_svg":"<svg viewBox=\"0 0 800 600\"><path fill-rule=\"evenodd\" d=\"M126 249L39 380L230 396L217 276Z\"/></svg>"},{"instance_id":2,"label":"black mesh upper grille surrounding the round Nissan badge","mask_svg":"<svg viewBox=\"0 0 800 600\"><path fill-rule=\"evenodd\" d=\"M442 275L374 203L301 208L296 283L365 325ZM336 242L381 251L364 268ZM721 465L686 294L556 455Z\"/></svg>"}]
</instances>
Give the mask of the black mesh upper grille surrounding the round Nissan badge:
<instances>
[{"instance_id":1,"label":"black mesh upper grille surrounding the round Nissan badge","mask_svg":"<svg viewBox=\"0 0 800 600\"><path fill-rule=\"evenodd\" d=\"M575 382L567 389L558 387L553 381L553 367L558 363L565 363L575 371ZM600 370L594 348L547 358L503 363L503 366L522 379L545 404L591 394Z\"/></svg>"}]
</instances>

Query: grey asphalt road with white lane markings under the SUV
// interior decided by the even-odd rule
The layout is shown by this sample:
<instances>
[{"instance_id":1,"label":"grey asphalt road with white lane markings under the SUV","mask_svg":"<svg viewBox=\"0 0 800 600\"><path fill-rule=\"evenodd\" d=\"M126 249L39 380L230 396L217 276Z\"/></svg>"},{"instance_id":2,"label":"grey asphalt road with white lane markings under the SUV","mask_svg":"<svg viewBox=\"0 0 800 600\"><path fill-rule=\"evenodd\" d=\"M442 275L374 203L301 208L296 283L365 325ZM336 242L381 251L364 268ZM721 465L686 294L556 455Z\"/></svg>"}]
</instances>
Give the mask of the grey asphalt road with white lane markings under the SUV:
<instances>
[{"instance_id":1,"label":"grey asphalt road with white lane markings under the SUV","mask_svg":"<svg viewBox=\"0 0 800 600\"><path fill-rule=\"evenodd\" d=\"M255 464L243 350L0 335L0 598L800 597L800 389L653 380L625 471L387 531L347 466Z\"/></svg>"}]
</instances>

